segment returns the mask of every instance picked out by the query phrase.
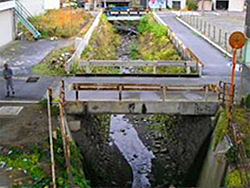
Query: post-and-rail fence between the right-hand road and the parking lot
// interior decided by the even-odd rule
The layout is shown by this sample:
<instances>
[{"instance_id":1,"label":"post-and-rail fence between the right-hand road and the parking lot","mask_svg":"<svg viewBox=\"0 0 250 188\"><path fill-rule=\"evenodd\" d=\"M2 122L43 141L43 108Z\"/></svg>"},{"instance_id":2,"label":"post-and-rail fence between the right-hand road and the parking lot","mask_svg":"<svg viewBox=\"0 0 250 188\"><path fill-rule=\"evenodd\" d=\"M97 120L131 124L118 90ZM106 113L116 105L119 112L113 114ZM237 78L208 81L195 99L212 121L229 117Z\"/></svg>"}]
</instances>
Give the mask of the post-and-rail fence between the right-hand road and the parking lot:
<instances>
[{"instance_id":1,"label":"post-and-rail fence between the right-hand road and the parking lot","mask_svg":"<svg viewBox=\"0 0 250 188\"><path fill-rule=\"evenodd\" d=\"M222 28L219 28L216 25L206 20L203 20L197 15L192 15L192 14L180 15L179 18L182 19L191 27L201 32L206 37L208 37L211 41L219 45L229 54L232 54L232 48L229 44L229 37L230 37L231 32L226 31ZM244 51L243 48L237 51L238 59L241 59L243 57L243 51Z\"/></svg>"}]
</instances>

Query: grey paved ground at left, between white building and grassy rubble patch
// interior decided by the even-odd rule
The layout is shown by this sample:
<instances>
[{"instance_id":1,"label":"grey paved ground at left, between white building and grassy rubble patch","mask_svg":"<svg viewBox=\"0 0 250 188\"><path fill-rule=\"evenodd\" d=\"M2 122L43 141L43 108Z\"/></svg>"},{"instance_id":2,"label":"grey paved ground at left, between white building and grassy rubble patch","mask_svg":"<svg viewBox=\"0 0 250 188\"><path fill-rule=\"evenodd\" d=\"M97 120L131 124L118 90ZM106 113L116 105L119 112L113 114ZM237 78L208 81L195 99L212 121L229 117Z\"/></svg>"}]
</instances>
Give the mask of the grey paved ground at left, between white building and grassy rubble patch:
<instances>
[{"instance_id":1,"label":"grey paved ground at left, between white building and grassy rubble patch","mask_svg":"<svg viewBox=\"0 0 250 188\"><path fill-rule=\"evenodd\" d=\"M0 76L3 64L8 63L14 71L15 76L33 75L32 67L40 63L53 50L70 46L72 40L47 41L14 41L0 48Z\"/></svg>"}]
</instances>

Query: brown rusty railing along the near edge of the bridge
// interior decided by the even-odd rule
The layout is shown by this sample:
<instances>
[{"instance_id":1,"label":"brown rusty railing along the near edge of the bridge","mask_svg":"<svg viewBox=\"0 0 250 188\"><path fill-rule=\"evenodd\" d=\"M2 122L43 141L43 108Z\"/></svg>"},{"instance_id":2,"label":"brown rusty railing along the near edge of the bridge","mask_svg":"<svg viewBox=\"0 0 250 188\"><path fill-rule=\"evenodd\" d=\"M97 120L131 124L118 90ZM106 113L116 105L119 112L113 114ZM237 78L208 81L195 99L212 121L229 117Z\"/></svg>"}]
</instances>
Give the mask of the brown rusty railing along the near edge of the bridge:
<instances>
[{"instance_id":1,"label":"brown rusty railing along the near edge of the bridge","mask_svg":"<svg viewBox=\"0 0 250 188\"><path fill-rule=\"evenodd\" d=\"M157 85L157 84L115 84L115 83L73 83L75 100L79 100L81 91L118 91L118 101L123 101L123 91L154 91L162 93L162 101L166 101L167 92L194 92L204 94L204 101L208 100L209 93L216 93L215 84L210 85Z\"/></svg>"}]
</instances>

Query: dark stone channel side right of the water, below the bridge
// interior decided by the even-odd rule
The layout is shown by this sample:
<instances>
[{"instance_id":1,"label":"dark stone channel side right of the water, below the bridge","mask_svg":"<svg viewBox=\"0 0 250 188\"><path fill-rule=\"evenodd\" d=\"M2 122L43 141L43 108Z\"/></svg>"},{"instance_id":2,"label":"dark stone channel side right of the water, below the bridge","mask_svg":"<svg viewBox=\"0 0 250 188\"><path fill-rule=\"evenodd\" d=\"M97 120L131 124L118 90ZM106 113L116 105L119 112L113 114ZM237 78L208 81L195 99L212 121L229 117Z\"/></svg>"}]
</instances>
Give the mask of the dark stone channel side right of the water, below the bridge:
<instances>
[{"instance_id":1,"label":"dark stone channel side right of the water, below the bridge","mask_svg":"<svg viewBox=\"0 0 250 188\"><path fill-rule=\"evenodd\" d=\"M165 119L157 121L162 118ZM144 119L144 123L136 119L131 121L139 137L155 155L149 175L151 186L194 186L198 179L194 176L198 176L202 165L202 161L197 162L196 159L202 155L200 149L212 130L210 117L165 115L153 121Z\"/></svg>"}]
</instances>

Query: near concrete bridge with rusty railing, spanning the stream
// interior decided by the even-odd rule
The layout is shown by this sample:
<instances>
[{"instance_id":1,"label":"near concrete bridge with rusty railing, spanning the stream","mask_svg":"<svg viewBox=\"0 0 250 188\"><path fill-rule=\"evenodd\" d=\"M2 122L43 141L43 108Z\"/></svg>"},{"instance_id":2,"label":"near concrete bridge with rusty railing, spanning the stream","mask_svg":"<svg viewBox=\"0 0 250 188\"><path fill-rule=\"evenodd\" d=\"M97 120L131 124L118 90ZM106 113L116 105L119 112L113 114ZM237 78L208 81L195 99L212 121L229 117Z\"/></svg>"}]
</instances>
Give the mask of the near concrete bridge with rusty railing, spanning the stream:
<instances>
[{"instance_id":1,"label":"near concrete bridge with rusty railing, spanning the stream","mask_svg":"<svg viewBox=\"0 0 250 188\"><path fill-rule=\"evenodd\" d=\"M214 115L222 93L216 84L62 83L67 114Z\"/></svg>"}]
</instances>

